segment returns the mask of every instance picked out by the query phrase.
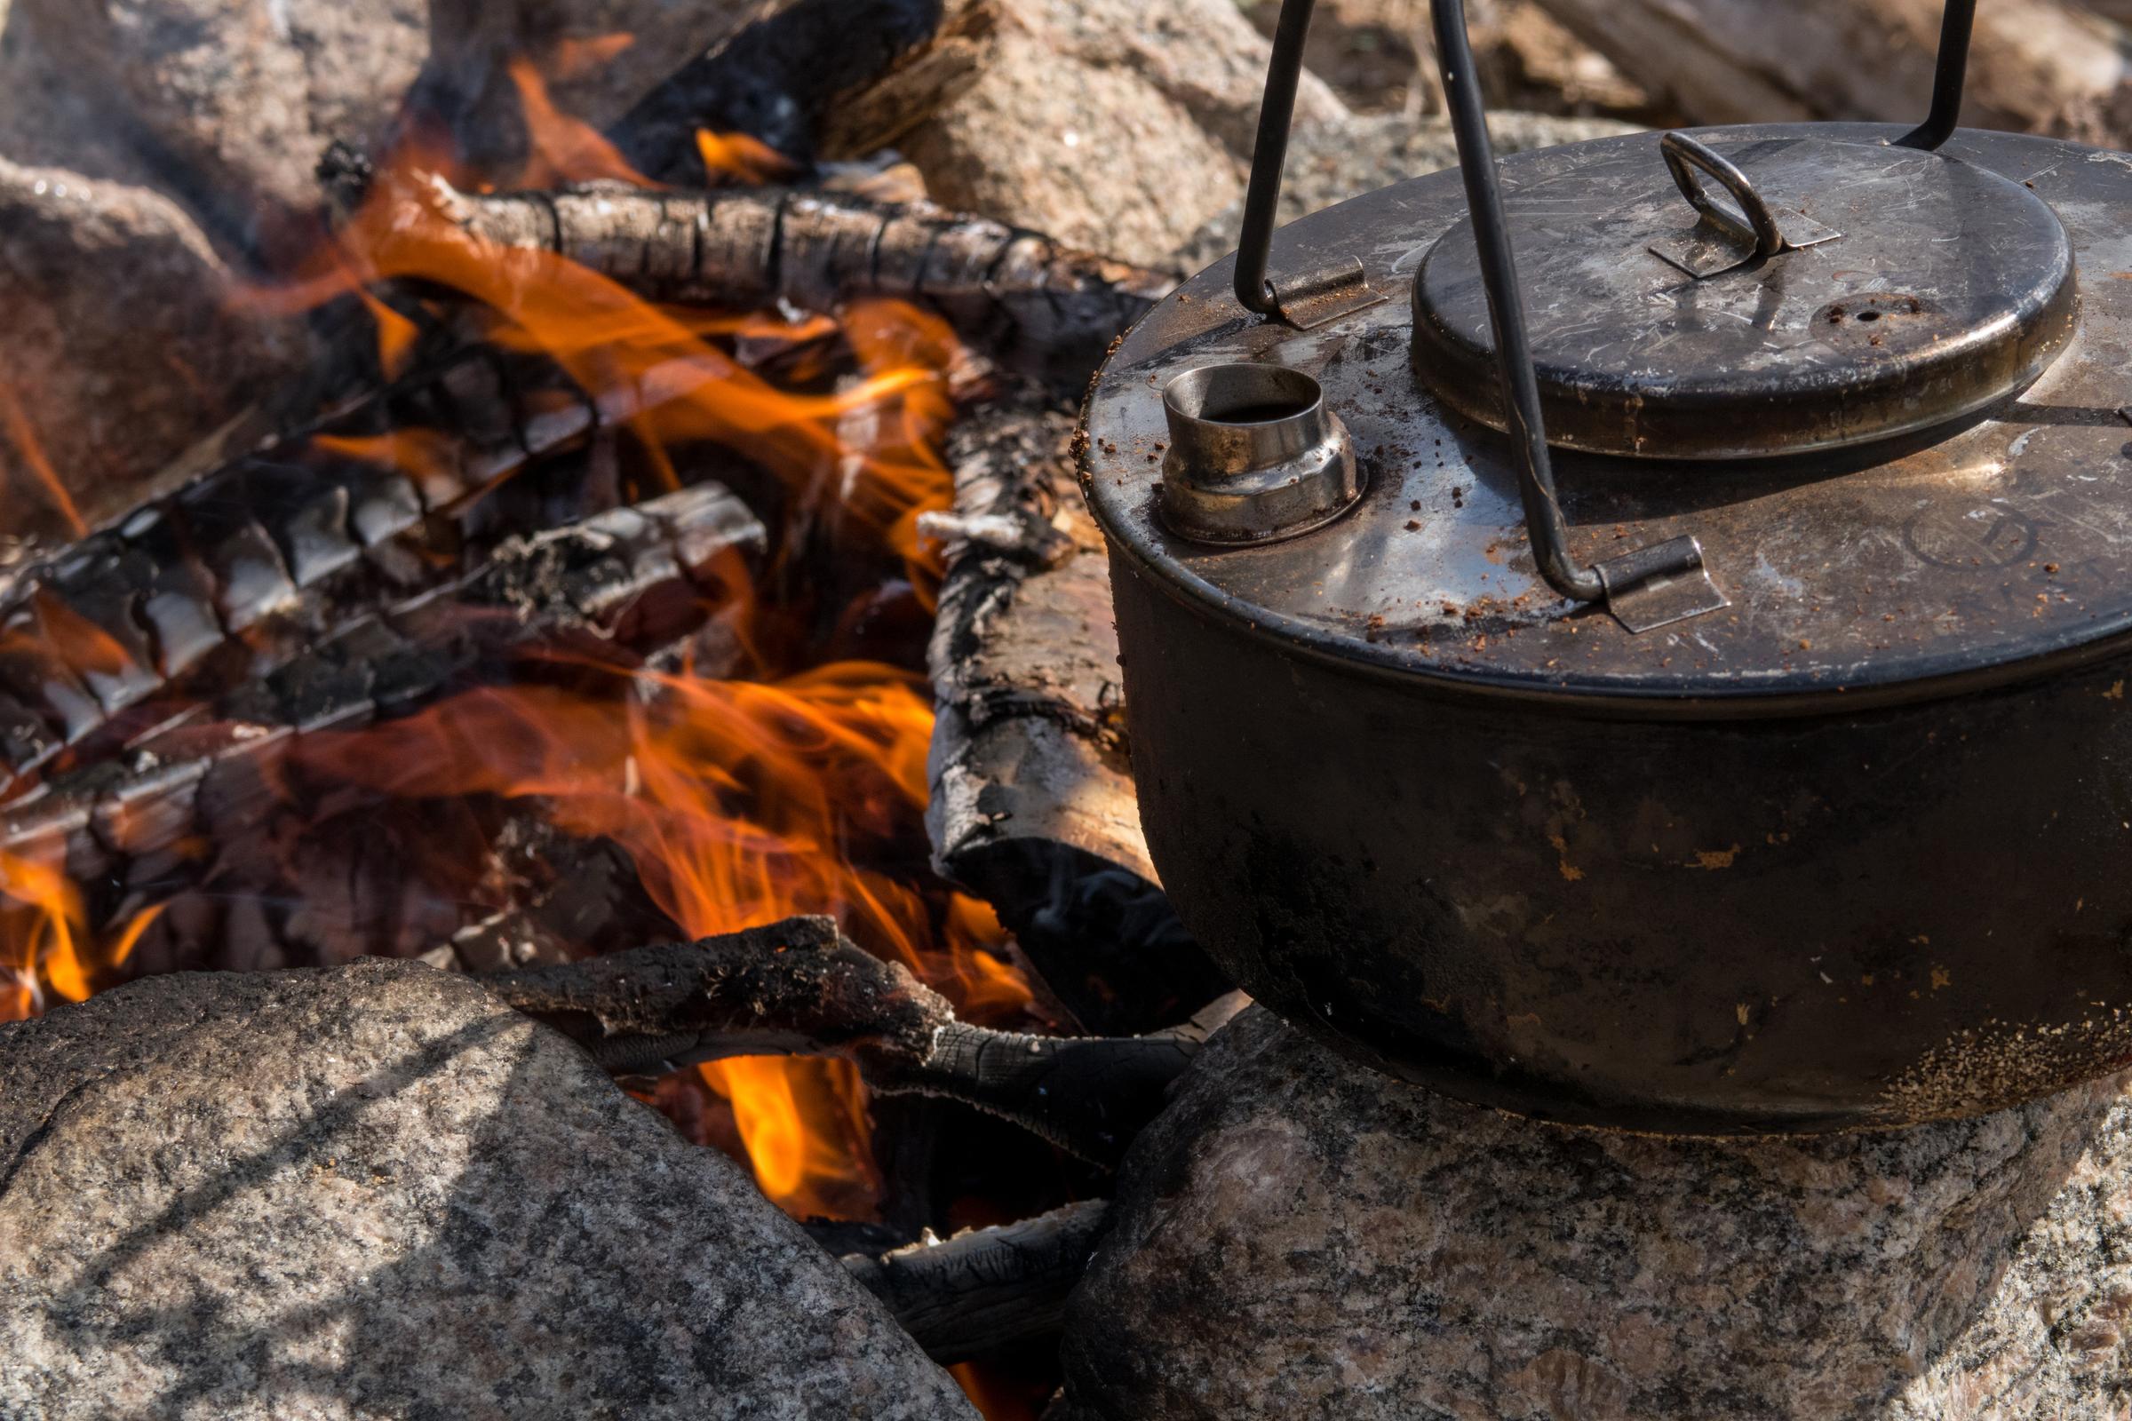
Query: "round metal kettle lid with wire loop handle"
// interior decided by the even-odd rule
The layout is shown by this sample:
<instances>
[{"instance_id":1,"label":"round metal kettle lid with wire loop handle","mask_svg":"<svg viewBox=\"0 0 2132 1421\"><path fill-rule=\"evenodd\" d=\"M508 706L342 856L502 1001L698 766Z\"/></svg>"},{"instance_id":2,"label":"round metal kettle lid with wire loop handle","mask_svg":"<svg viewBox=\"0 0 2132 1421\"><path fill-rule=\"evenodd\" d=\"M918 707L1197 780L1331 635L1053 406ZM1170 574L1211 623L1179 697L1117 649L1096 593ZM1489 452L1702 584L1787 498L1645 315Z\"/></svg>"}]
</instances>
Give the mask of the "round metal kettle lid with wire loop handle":
<instances>
[{"instance_id":1,"label":"round metal kettle lid with wire loop handle","mask_svg":"<svg viewBox=\"0 0 2132 1421\"><path fill-rule=\"evenodd\" d=\"M1797 130L1723 145L1676 132L1661 156L1552 149L1505 185L1556 447L1738 460L1863 445L2000 401L2064 349L2072 247L2019 181ZM1414 281L1414 373L1507 426L1471 217Z\"/></svg>"}]
</instances>

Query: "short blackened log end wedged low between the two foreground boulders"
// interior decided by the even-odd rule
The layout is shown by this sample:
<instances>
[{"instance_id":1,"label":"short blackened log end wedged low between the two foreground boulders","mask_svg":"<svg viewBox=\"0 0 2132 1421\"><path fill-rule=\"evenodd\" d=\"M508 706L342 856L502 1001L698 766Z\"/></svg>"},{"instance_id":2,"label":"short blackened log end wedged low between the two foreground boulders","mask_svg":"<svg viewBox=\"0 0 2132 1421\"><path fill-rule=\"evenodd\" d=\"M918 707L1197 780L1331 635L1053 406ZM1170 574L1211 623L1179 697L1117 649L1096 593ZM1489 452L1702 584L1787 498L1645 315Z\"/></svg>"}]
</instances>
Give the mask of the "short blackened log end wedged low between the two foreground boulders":
<instances>
[{"instance_id":1,"label":"short blackened log end wedged low between the two foreground boulders","mask_svg":"<svg viewBox=\"0 0 2132 1421\"><path fill-rule=\"evenodd\" d=\"M949 1240L849 1253L842 1263L925 1355L955 1363L1055 1334L1107 1223L1109 1204L1087 1199Z\"/></svg>"}]
</instances>

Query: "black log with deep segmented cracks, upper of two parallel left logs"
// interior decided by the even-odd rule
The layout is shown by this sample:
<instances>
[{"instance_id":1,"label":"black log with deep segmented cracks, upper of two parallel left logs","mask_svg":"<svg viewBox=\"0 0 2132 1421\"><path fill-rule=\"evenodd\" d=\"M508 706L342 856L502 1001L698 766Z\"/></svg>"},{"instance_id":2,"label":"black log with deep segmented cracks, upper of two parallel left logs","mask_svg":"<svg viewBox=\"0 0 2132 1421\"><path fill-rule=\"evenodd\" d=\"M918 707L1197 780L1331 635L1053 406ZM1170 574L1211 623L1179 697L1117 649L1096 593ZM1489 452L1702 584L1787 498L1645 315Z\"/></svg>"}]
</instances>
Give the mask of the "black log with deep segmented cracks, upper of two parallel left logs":
<instances>
[{"instance_id":1,"label":"black log with deep segmented cracks, upper of two parallel left logs","mask_svg":"<svg viewBox=\"0 0 2132 1421\"><path fill-rule=\"evenodd\" d=\"M0 786L166 692L239 686L369 609L435 592L514 524L614 501L574 464L529 477L614 418L484 352L224 464L26 567L0 597ZM392 441L422 441L394 467ZM550 460L552 462L552 460Z\"/></svg>"}]
</instances>

